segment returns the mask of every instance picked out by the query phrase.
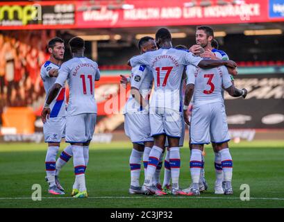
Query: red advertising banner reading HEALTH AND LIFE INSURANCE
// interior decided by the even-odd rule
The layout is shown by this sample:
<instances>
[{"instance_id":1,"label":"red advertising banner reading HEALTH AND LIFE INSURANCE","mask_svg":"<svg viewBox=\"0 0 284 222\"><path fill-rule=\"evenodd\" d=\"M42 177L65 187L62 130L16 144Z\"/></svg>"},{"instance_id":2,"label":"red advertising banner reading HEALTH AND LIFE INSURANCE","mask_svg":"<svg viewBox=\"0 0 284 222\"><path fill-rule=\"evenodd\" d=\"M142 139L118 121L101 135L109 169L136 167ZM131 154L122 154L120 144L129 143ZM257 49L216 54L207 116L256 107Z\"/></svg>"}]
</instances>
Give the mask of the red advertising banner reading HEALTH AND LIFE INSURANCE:
<instances>
[{"instance_id":1,"label":"red advertising banner reading HEALTH AND LIFE INSURANCE","mask_svg":"<svg viewBox=\"0 0 284 222\"><path fill-rule=\"evenodd\" d=\"M126 1L125 8L129 9L117 10L101 5L100 9L77 11L77 25L81 28L117 28L270 22L268 0L247 0L226 5L206 1L211 3L210 6L202 6L202 2L194 5L186 0ZM83 3L78 3L77 7L83 7Z\"/></svg>"}]
</instances>

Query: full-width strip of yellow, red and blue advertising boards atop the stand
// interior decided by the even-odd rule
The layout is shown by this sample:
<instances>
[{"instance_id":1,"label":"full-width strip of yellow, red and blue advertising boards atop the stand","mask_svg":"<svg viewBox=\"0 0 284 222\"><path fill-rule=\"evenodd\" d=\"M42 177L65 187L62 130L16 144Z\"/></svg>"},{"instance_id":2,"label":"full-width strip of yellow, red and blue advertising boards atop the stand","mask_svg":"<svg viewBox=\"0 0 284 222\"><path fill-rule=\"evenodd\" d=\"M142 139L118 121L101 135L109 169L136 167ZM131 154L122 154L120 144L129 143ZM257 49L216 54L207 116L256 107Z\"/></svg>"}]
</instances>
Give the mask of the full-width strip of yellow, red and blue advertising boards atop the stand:
<instances>
[{"instance_id":1,"label":"full-width strip of yellow, red and blue advertising boards atop the stand","mask_svg":"<svg viewBox=\"0 0 284 222\"><path fill-rule=\"evenodd\" d=\"M1 2L1 29L119 28L284 21L281 0Z\"/></svg>"}]
</instances>

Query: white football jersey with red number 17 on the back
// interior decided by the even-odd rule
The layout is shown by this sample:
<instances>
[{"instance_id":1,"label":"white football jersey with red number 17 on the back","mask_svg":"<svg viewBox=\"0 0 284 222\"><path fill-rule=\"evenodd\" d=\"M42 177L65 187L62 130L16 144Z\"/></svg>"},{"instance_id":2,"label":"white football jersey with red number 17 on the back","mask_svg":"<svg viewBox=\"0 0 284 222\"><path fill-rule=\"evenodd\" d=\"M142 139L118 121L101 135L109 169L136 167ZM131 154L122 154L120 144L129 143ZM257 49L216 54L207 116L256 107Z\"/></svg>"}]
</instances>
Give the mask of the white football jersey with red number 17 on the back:
<instances>
[{"instance_id":1,"label":"white football jersey with red number 17 on the back","mask_svg":"<svg viewBox=\"0 0 284 222\"><path fill-rule=\"evenodd\" d=\"M150 108L180 110L183 69L197 66L202 58L182 49L160 48L131 58L131 66L147 65L155 81Z\"/></svg>"}]
</instances>

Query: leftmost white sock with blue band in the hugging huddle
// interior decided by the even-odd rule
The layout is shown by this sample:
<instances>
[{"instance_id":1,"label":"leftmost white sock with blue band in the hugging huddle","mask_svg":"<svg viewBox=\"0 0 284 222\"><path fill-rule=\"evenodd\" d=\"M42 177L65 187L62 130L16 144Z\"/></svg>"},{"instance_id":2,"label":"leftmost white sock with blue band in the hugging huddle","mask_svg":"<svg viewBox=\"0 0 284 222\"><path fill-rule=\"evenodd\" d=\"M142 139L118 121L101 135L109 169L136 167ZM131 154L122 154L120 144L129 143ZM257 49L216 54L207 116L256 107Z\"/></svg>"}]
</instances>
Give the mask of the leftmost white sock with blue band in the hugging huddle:
<instances>
[{"instance_id":1,"label":"leftmost white sock with blue band in the hugging huddle","mask_svg":"<svg viewBox=\"0 0 284 222\"><path fill-rule=\"evenodd\" d=\"M136 151L132 149L131 156L129 158L129 165L131 169L131 186L140 187L140 169L141 169L141 159L143 152Z\"/></svg>"}]
</instances>

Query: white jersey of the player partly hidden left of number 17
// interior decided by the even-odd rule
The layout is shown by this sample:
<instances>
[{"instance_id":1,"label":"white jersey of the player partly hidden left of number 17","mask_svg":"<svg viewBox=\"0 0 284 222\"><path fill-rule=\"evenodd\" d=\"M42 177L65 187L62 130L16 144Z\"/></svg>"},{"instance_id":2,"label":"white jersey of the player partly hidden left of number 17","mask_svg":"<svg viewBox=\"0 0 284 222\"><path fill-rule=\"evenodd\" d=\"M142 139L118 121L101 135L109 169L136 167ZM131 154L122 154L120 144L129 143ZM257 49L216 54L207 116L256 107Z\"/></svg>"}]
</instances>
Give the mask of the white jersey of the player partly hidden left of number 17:
<instances>
[{"instance_id":1,"label":"white jersey of the player partly hidden left of number 17","mask_svg":"<svg viewBox=\"0 0 284 222\"><path fill-rule=\"evenodd\" d=\"M131 69L131 87L139 89L140 94L146 101L149 101L152 86L153 75L149 67L146 65L137 65ZM142 106L130 94L126 101L125 113L141 111L143 111Z\"/></svg>"}]
</instances>

